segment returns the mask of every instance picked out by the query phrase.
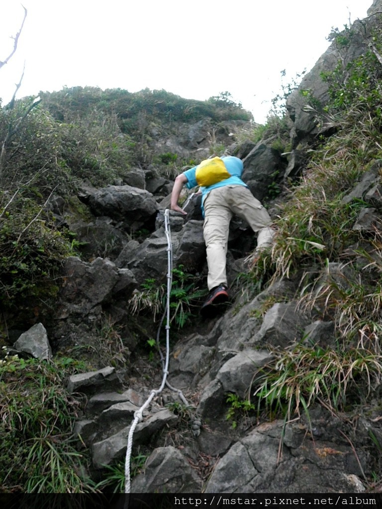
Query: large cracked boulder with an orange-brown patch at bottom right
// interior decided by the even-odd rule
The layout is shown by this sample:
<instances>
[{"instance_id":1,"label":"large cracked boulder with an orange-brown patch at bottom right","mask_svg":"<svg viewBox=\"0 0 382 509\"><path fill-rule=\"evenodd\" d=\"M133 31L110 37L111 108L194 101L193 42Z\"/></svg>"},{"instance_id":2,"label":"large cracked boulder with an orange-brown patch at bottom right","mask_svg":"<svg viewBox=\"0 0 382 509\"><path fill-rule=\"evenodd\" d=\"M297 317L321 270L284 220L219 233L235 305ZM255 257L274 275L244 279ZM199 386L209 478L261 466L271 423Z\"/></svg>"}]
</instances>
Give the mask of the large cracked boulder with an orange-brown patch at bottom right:
<instances>
[{"instance_id":1,"label":"large cracked boulder with an orange-brown patch at bottom right","mask_svg":"<svg viewBox=\"0 0 382 509\"><path fill-rule=\"evenodd\" d=\"M338 423L337 423L338 427ZM260 425L236 442L209 479L206 493L328 493L354 490L362 474L351 446L339 432L333 439L307 436L301 422ZM280 442L281 441L281 442ZM284 441L282 456L280 443ZM361 454L361 465L368 456Z\"/></svg>"}]
</instances>

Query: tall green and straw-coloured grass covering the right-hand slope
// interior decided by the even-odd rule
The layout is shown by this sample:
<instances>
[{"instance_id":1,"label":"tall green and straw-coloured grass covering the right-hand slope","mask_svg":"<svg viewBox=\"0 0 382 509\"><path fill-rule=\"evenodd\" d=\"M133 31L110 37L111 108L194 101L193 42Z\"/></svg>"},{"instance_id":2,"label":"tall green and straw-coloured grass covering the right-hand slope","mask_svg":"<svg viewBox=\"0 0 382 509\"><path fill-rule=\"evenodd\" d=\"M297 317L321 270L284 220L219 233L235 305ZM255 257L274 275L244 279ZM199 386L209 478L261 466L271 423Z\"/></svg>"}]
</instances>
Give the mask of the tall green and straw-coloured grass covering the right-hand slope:
<instances>
[{"instance_id":1,"label":"tall green and straw-coloured grass covering the right-hand slope","mask_svg":"<svg viewBox=\"0 0 382 509\"><path fill-rule=\"evenodd\" d=\"M354 228L369 206L362 197L343 200L382 158L380 35L365 54L345 66L342 59L322 76L330 101L316 112L318 123L334 134L317 140L301 179L291 185L275 221L274 245L253 257L259 290L294 278L299 305L313 320L335 325L331 347L276 349L257 380L259 409L276 407L287 419L309 415L313 403L346 411L367 401L382 380L382 238L377 226Z\"/></svg>"}]
</instances>

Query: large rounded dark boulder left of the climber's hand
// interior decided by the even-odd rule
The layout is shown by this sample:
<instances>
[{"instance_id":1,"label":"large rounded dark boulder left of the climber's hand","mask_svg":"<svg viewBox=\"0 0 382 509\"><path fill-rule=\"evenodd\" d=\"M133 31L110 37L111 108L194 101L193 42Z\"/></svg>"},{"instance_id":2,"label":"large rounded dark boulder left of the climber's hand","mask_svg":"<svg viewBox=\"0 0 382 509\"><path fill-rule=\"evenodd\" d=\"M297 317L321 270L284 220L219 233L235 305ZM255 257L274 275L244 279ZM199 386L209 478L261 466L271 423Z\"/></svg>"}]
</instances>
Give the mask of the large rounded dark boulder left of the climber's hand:
<instances>
[{"instance_id":1,"label":"large rounded dark boulder left of the climber's hand","mask_svg":"<svg viewBox=\"0 0 382 509\"><path fill-rule=\"evenodd\" d=\"M131 186L107 186L89 196L89 207L97 216L122 221L131 230L138 230L155 219L158 205L145 189Z\"/></svg>"}]
</instances>

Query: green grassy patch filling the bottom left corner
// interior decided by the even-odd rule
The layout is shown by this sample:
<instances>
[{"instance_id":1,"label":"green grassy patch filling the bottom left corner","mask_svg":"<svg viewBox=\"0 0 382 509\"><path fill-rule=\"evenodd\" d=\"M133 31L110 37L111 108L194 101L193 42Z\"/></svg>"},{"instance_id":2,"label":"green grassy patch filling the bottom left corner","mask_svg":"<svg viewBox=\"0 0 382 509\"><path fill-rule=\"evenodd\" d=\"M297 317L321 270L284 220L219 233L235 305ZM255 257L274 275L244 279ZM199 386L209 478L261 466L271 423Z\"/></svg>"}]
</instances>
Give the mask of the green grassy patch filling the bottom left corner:
<instances>
[{"instance_id":1,"label":"green grassy patch filling the bottom left corner","mask_svg":"<svg viewBox=\"0 0 382 509\"><path fill-rule=\"evenodd\" d=\"M69 358L58 362L0 361L0 478L3 493L91 493L88 458L72 438L79 403L63 388L77 372Z\"/></svg>"}]
</instances>

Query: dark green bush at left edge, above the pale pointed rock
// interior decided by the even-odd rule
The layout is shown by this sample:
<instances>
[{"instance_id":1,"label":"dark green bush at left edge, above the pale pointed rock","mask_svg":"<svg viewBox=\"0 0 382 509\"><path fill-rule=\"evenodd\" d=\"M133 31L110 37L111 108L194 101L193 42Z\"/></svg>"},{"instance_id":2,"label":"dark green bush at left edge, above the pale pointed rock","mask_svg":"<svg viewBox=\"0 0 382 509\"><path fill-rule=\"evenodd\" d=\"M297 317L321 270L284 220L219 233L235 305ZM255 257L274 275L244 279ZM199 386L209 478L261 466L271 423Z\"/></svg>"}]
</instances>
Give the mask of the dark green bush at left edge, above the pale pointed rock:
<instances>
[{"instance_id":1,"label":"dark green bush at left edge, above the pale pointed rock","mask_svg":"<svg viewBox=\"0 0 382 509\"><path fill-rule=\"evenodd\" d=\"M36 309L57 294L59 269L70 253L65 233L30 198L0 194L0 302L3 310Z\"/></svg>"}]
</instances>

